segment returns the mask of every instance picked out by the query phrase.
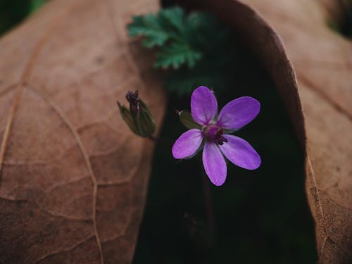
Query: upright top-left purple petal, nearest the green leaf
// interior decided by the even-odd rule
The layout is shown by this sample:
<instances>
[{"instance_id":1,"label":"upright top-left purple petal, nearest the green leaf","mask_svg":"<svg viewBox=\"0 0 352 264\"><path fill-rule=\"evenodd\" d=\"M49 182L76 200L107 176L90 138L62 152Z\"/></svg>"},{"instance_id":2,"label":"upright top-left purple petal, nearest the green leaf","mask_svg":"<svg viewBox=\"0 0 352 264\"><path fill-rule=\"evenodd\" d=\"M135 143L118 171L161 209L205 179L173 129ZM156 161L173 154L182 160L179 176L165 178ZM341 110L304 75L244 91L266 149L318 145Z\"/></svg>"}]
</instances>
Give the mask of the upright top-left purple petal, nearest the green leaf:
<instances>
[{"instance_id":1,"label":"upright top-left purple petal, nearest the green leaf","mask_svg":"<svg viewBox=\"0 0 352 264\"><path fill-rule=\"evenodd\" d=\"M191 114L199 125L207 125L218 112L218 101L205 86L196 88L191 96Z\"/></svg>"}]
</instances>

